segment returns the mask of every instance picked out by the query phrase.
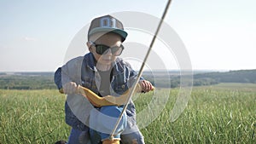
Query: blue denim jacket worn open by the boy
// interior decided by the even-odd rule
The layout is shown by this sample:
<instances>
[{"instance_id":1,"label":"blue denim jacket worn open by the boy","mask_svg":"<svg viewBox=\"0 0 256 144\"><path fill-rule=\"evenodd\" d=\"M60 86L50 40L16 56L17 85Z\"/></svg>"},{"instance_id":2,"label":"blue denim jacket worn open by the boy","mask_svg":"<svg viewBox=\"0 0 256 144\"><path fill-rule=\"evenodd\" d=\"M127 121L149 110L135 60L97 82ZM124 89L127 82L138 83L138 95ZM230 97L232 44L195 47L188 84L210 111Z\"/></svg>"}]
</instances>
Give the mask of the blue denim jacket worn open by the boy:
<instances>
[{"instance_id":1,"label":"blue denim jacket worn open by the boy","mask_svg":"<svg viewBox=\"0 0 256 144\"><path fill-rule=\"evenodd\" d=\"M69 60L66 65L59 67L55 72L55 84L58 89L61 89L64 84L75 82L99 95L97 88L100 88L101 77L95 64L96 60L91 53ZM129 63L117 58L113 62L111 76L110 95L119 96L132 86L137 73L132 70ZM83 114L89 117L90 112L86 112L87 108L84 108L84 111ZM88 130L88 127L75 116L67 101L65 103L65 113L67 124L77 130ZM126 114L128 116L128 126L136 124L136 111L132 101L128 104Z\"/></svg>"}]
</instances>

